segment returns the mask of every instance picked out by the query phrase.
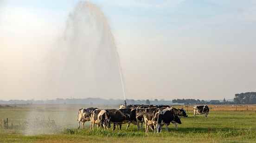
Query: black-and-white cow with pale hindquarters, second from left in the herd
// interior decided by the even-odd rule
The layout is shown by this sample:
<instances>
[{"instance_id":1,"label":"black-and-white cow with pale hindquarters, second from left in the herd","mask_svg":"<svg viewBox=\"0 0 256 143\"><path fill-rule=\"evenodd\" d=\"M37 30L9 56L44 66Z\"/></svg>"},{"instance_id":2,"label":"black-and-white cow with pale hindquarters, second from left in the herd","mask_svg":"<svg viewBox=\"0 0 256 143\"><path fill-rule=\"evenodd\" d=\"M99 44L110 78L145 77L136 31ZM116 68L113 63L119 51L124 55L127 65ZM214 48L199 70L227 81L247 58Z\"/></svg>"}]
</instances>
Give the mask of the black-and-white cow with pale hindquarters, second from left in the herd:
<instances>
[{"instance_id":1,"label":"black-and-white cow with pale hindquarters, second from left in the herd","mask_svg":"<svg viewBox=\"0 0 256 143\"><path fill-rule=\"evenodd\" d=\"M99 127L103 126L105 130L109 124L110 116L106 110L96 109L93 111L90 120L90 129L94 130L94 125L96 124L98 129Z\"/></svg>"}]
</instances>

